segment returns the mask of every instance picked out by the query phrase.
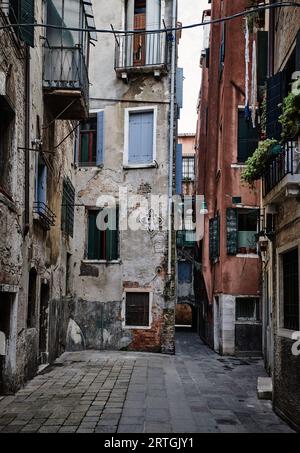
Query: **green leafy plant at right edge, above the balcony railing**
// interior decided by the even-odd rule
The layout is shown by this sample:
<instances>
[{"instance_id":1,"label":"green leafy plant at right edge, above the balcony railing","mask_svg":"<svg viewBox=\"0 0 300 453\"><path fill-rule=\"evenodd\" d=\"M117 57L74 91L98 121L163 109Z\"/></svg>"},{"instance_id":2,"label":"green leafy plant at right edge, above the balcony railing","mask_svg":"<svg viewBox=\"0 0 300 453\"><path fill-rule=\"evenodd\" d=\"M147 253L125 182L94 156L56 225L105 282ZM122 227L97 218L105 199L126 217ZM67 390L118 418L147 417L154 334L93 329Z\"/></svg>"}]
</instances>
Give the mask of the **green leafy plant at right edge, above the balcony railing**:
<instances>
[{"instance_id":1,"label":"green leafy plant at right edge, above the balcony railing","mask_svg":"<svg viewBox=\"0 0 300 453\"><path fill-rule=\"evenodd\" d=\"M300 78L293 84L292 91L283 100L283 111L279 117L283 141L295 138L300 133Z\"/></svg>"}]
</instances>

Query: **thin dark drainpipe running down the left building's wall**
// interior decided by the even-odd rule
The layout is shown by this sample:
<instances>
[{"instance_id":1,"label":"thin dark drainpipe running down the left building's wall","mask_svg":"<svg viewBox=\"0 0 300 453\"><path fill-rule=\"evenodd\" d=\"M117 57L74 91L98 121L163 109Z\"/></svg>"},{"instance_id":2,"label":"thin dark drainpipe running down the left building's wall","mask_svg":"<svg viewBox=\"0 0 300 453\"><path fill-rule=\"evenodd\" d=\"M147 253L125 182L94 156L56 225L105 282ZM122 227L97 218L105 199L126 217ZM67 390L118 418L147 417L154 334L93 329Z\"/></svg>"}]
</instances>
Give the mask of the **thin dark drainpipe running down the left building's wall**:
<instances>
[{"instance_id":1,"label":"thin dark drainpipe running down the left building's wall","mask_svg":"<svg viewBox=\"0 0 300 453\"><path fill-rule=\"evenodd\" d=\"M24 236L29 232L29 127L30 127L30 50L26 46L25 59L25 218Z\"/></svg>"}]
</instances>

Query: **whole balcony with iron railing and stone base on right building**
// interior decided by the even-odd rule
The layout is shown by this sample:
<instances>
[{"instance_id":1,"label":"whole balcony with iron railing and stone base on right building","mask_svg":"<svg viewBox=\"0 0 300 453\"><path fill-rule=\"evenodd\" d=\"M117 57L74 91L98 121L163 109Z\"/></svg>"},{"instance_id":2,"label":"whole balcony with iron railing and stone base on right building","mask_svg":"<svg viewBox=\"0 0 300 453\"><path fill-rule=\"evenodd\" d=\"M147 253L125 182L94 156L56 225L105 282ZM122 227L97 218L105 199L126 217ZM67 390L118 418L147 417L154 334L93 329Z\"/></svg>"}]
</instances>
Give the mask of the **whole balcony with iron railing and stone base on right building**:
<instances>
[{"instance_id":1,"label":"whole balcony with iron railing and stone base on right building","mask_svg":"<svg viewBox=\"0 0 300 453\"><path fill-rule=\"evenodd\" d=\"M264 205L284 197L300 196L300 153L295 142L282 146L280 154L268 163L263 175Z\"/></svg>"}]
</instances>

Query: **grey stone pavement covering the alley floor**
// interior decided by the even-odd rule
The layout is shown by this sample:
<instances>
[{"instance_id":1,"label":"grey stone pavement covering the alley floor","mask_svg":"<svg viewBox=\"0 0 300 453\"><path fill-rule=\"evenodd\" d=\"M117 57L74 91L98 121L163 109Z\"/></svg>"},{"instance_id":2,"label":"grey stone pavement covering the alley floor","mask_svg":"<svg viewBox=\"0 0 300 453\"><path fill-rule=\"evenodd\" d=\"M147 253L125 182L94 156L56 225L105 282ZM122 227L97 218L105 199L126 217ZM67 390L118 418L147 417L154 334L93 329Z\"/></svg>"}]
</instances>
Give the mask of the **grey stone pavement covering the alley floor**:
<instances>
[{"instance_id":1,"label":"grey stone pavement covering the alley floor","mask_svg":"<svg viewBox=\"0 0 300 453\"><path fill-rule=\"evenodd\" d=\"M176 356L65 353L0 400L0 431L40 433L292 432L256 397L259 359L222 358L193 333Z\"/></svg>"}]
</instances>

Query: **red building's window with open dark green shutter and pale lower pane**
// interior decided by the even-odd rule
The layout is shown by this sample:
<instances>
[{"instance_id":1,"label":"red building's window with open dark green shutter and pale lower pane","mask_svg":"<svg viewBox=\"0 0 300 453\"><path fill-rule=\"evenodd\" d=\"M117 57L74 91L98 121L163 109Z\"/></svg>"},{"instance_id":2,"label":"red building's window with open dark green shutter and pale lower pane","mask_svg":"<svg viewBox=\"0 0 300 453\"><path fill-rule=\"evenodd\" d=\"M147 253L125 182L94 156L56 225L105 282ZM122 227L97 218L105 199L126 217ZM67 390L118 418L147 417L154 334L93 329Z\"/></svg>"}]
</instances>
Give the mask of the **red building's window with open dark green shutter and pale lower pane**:
<instances>
[{"instance_id":1,"label":"red building's window with open dark green shutter and pale lower pane","mask_svg":"<svg viewBox=\"0 0 300 453\"><path fill-rule=\"evenodd\" d=\"M258 209L227 209L227 253L256 253Z\"/></svg>"}]
</instances>

